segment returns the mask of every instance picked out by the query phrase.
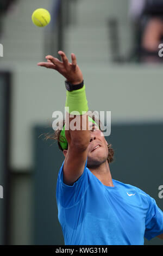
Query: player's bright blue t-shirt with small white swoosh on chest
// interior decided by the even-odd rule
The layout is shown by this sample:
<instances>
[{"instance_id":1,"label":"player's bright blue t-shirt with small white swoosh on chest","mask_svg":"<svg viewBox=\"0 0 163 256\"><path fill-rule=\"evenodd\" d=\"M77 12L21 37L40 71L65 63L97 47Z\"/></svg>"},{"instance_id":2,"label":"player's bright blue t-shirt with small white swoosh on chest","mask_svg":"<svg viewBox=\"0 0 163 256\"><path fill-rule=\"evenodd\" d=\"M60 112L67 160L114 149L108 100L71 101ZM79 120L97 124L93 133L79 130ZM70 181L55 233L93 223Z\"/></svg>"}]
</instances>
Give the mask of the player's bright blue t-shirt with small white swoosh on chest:
<instances>
[{"instance_id":1,"label":"player's bright blue t-shirt with small white swoosh on chest","mask_svg":"<svg viewBox=\"0 0 163 256\"><path fill-rule=\"evenodd\" d=\"M87 161L86 161L87 163ZM86 167L72 186L57 180L58 218L65 245L143 245L163 233L163 213L137 187L112 180L105 186Z\"/></svg>"}]
</instances>

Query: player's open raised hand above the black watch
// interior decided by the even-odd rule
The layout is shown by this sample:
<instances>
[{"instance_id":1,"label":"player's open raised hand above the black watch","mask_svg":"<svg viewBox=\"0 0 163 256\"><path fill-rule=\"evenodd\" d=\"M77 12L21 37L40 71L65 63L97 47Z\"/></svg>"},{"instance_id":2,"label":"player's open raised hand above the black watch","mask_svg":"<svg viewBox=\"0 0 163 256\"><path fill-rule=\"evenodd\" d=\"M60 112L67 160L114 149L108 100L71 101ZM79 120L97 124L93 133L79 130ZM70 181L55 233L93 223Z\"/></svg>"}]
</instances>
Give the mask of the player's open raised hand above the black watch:
<instances>
[{"instance_id":1,"label":"player's open raised hand above the black watch","mask_svg":"<svg viewBox=\"0 0 163 256\"><path fill-rule=\"evenodd\" d=\"M66 54L59 51L58 54L61 56L62 62L59 59L54 58L51 55L46 56L47 62L39 62L38 66L45 66L48 69L55 69L61 75L63 75L68 82L72 84L79 84L83 81L82 71L77 65L77 59L74 53L71 53L72 63L68 62Z\"/></svg>"}]
</instances>

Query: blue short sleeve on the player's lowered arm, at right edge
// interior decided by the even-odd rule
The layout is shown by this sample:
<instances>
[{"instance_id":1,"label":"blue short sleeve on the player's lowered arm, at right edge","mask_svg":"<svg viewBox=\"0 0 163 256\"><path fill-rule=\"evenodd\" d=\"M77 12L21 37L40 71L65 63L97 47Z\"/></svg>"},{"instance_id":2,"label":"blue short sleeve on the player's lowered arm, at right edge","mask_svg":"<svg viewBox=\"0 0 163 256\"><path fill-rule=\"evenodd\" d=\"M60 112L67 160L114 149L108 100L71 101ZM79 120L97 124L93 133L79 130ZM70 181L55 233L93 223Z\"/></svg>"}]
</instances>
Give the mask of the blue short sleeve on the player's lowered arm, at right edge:
<instances>
[{"instance_id":1,"label":"blue short sleeve on the player's lowered arm, at right edge","mask_svg":"<svg viewBox=\"0 0 163 256\"><path fill-rule=\"evenodd\" d=\"M145 237L151 240L153 237L163 234L163 212L156 205L155 200L149 196L149 208L146 216Z\"/></svg>"}]
</instances>

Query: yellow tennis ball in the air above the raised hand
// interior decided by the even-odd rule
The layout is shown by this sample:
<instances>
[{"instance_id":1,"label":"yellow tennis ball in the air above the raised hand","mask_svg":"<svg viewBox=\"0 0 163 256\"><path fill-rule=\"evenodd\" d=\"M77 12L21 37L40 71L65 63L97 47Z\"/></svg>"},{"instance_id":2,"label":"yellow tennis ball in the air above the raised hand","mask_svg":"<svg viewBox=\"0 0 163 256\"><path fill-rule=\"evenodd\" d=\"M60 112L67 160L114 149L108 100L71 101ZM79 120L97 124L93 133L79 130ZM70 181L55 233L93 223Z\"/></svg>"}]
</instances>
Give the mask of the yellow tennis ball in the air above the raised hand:
<instances>
[{"instance_id":1,"label":"yellow tennis ball in the air above the raised hand","mask_svg":"<svg viewBox=\"0 0 163 256\"><path fill-rule=\"evenodd\" d=\"M48 10L39 8L33 12L32 21L37 27L45 27L51 21L51 15Z\"/></svg>"}]
</instances>

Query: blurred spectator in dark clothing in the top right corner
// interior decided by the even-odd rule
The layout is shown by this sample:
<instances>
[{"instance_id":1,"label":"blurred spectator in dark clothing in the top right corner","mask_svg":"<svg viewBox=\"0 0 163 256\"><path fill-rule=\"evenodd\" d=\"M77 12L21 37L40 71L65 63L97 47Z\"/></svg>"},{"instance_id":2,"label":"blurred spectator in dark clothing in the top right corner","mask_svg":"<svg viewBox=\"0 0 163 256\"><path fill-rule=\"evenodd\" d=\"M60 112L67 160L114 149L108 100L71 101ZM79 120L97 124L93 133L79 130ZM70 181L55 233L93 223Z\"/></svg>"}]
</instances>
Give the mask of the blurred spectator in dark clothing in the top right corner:
<instances>
[{"instance_id":1,"label":"blurred spectator in dark clothing in the top right corner","mask_svg":"<svg viewBox=\"0 0 163 256\"><path fill-rule=\"evenodd\" d=\"M130 0L129 15L135 25L140 61L161 62L158 46L163 36L163 1Z\"/></svg>"}]
</instances>

